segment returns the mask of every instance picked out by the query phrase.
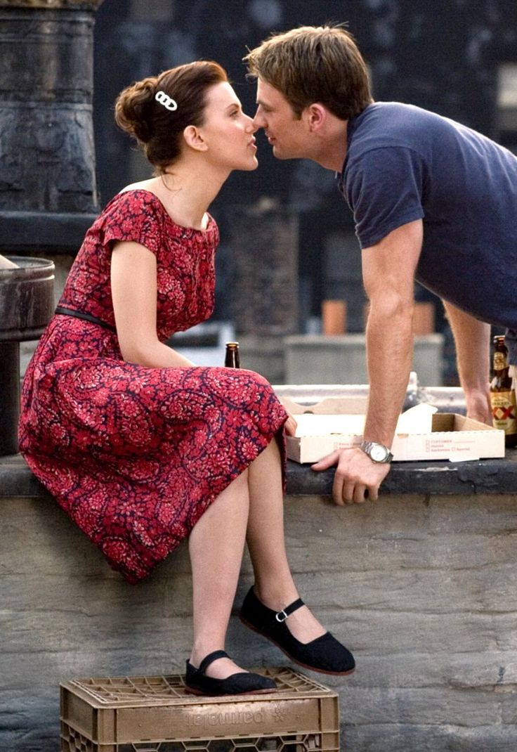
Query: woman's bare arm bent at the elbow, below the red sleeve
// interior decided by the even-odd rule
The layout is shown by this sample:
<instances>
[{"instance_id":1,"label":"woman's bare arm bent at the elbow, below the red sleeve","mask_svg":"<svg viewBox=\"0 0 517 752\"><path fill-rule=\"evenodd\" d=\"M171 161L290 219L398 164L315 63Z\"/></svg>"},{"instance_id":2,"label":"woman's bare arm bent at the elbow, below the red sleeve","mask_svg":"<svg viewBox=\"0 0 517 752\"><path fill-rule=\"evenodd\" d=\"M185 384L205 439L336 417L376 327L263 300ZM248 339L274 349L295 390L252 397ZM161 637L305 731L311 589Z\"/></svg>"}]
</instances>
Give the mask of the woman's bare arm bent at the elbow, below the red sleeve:
<instances>
[{"instance_id":1,"label":"woman's bare arm bent at the elbow, below the red sleeve","mask_svg":"<svg viewBox=\"0 0 517 752\"><path fill-rule=\"evenodd\" d=\"M124 360L150 368L194 365L159 341L156 334L156 257L140 243L115 243L111 296Z\"/></svg>"}]
</instances>

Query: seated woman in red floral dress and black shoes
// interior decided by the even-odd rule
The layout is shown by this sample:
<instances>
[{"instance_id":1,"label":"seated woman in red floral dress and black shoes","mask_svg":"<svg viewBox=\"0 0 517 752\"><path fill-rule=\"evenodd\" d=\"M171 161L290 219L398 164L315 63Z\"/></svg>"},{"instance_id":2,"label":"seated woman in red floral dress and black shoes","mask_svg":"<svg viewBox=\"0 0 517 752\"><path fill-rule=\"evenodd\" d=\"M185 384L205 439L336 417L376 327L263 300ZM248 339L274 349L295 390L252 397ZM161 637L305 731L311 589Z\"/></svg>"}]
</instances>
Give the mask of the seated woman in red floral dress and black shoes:
<instances>
[{"instance_id":1,"label":"seated woman in red floral dress and black shoes","mask_svg":"<svg viewBox=\"0 0 517 752\"><path fill-rule=\"evenodd\" d=\"M117 194L86 234L26 373L20 450L128 581L189 537L188 691L274 689L223 650L246 538L244 623L304 666L348 673L352 655L298 599L286 559L292 419L258 374L195 367L165 344L213 309L207 207L232 170L257 166L252 120L219 65L193 62L122 91L116 122L154 177Z\"/></svg>"}]
</instances>

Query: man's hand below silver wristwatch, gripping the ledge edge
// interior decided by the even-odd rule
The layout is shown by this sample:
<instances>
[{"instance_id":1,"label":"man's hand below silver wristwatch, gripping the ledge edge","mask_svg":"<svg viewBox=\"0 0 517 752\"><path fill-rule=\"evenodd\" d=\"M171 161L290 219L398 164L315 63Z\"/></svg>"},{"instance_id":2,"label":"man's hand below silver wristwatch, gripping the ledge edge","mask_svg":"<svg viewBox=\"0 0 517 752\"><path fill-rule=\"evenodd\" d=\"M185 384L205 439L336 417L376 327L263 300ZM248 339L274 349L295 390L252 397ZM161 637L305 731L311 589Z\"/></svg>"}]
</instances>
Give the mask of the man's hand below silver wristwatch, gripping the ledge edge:
<instances>
[{"instance_id":1,"label":"man's hand below silver wristwatch, gripping the ledge edge","mask_svg":"<svg viewBox=\"0 0 517 752\"><path fill-rule=\"evenodd\" d=\"M389 462L372 462L363 450L354 447L328 454L312 465L312 469L320 472L336 464L332 489L336 504L361 504L366 499L376 501L379 486L389 473Z\"/></svg>"}]
</instances>

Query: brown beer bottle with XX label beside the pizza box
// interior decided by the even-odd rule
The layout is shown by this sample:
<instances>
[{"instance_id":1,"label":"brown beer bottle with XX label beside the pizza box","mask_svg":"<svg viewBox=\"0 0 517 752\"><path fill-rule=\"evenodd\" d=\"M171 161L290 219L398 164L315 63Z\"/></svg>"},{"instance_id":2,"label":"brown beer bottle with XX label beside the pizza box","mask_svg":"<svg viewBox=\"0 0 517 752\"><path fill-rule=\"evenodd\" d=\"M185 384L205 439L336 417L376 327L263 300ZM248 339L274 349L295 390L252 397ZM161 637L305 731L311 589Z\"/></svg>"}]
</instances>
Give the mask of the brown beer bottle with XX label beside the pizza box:
<instances>
[{"instance_id":1,"label":"brown beer bottle with XX label beside the pizza box","mask_svg":"<svg viewBox=\"0 0 517 752\"><path fill-rule=\"evenodd\" d=\"M492 425L503 429L506 447L517 444L517 406L509 375L508 349L504 337L494 337L494 378L490 383Z\"/></svg>"}]
</instances>

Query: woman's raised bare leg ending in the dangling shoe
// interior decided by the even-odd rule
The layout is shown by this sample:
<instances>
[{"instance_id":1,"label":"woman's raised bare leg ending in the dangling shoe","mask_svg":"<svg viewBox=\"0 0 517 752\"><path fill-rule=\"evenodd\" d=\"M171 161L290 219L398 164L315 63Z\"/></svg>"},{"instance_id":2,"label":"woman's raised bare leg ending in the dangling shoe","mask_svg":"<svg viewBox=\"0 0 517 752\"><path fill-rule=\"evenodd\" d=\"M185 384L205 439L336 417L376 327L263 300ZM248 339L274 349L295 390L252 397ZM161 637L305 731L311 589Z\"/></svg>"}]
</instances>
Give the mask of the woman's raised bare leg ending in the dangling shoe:
<instances>
[{"instance_id":1,"label":"woman's raised bare leg ending in the dangling shoe","mask_svg":"<svg viewBox=\"0 0 517 752\"><path fill-rule=\"evenodd\" d=\"M255 593L280 611L298 598L286 554L280 451L272 439L248 468L249 514L246 541L255 573ZM307 607L289 616L289 631L301 642L325 634Z\"/></svg>"}]
</instances>

